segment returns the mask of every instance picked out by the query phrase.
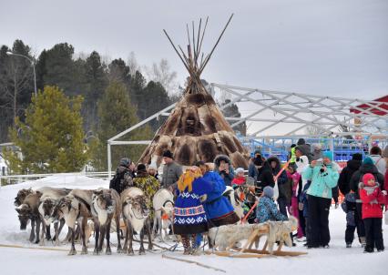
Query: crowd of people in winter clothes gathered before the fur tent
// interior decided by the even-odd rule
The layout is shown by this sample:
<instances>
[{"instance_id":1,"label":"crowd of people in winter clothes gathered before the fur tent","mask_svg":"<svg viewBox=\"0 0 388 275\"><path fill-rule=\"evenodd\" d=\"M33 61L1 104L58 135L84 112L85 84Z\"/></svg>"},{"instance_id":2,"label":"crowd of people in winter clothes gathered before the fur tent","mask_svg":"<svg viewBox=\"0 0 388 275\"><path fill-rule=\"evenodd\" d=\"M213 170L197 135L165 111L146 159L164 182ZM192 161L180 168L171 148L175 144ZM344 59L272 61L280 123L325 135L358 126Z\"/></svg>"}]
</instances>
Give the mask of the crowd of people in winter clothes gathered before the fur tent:
<instances>
[{"instance_id":1,"label":"crowd of people in winter clothes gathered before the fur tent","mask_svg":"<svg viewBox=\"0 0 388 275\"><path fill-rule=\"evenodd\" d=\"M228 186L247 185L252 196L244 197L244 220L261 223L294 216L299 227L291 236L293 245L296 240L309 249L329 248L329 212L332 200L335 208L340 205L338 198L342 194L346 248L352 248L357 232L364 252L384 250L382 220L383 209L388 208L388 147L383 151L373 147L363 159L362 153L355 153L341 168L333 161L332 151L323 151L320 144L310 146L300 138L291 146L284 165L275 156L263 158L259 150L255 151L247 176L244 168L233 168L225 155L217 156L213 164L197 161L183 170L166 150L163 162L163 173L158 175L155 164L138 164L136 168L129 158L122 158L109 188L120 193L125 188L138 187L149 201L158 188L170 190L175 196L170 231L181 236L185 254L199 252L202 233L209 228L240 221L225 192Z\"/></svg>"}]
</instances>

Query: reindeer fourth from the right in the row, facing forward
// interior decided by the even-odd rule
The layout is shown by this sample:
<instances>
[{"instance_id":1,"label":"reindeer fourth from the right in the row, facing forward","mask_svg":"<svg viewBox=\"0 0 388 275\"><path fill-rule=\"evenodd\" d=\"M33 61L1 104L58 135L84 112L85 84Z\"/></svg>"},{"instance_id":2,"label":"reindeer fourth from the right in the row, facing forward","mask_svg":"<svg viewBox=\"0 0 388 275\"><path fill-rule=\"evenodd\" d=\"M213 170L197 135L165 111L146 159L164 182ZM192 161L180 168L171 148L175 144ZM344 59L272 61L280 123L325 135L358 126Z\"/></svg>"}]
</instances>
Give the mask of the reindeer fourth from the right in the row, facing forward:
<instances>
[{"instance_id":1,"label":"reindeer fourth from the right in the row, facing forward","mask_svg":"<svg viewBox=\"0 0 388 275\"><path fill-rule=\"evenodd\" d=\"M76 192L73 192L75 191ZM80 189L75 189L68 195L59 199L56 204L54 214L55 216L63 216L68 229L71 232L71 249L68 255L76 255L77 251L75 248L76 239L76 221L80 227L81 239L82 239L82 251L81 254L87 254L87 240L85 238L85 229L87 227L87 219L92 218L90 205L85 199L79 198L75 195ZM90 193L90 190L85 191L84 194ZM80 192L79 192L80 193ZM90 194L91 197L91 194Z\"/></svg>"}]
</instances>

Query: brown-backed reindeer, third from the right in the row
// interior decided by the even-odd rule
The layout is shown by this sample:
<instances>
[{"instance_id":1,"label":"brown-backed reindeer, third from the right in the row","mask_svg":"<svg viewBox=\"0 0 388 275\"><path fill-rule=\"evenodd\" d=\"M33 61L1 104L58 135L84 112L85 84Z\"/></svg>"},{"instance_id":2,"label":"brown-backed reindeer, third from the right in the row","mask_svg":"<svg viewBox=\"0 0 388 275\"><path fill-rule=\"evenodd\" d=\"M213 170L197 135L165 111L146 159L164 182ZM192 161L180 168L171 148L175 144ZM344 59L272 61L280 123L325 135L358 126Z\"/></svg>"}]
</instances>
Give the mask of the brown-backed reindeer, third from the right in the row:
<instances>
[{"instance_id":1,"label":"brown-backed reindeer, third from the right in the row","mask_svg":"<svg viewBox=\"0 0 388 275\"><path fill-rule=\"evenodd\" d=\"M112 254L110 250L110 225L112 219L115 219L116 231L117 231L117 253L122 252L120 242L120 215L121 215L121 200L117 191L114 189L99 188L93 191L91 210L93 216L95 216L95 234L96 245L95 254L99 254L102 251L104 238L107 237L107 250L106 254Z\"/></svg>"}]
</instances>

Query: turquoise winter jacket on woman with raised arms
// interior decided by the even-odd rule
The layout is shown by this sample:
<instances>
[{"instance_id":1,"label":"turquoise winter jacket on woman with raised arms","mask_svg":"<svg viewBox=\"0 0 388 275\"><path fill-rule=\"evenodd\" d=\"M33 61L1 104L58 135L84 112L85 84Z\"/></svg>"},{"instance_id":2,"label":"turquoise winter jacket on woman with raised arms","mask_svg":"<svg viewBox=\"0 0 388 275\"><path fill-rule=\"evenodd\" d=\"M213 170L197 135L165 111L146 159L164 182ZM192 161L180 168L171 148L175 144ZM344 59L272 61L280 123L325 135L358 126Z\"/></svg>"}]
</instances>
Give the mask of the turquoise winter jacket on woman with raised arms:
<instances>
[{"instance_id":1,"label":"turquoise winter jacket on woman with raised arms","mask_svg":"<svg viewBox=\"0 0 388 275\"><path fill-rule=\"evenodd\" d=\"M321 165L317 165L314 168L309 166L302 173L302 178L310 179L311 185L307 190L307 194L315 197L332 199L332 188L337 186L338 178L340 175L336 168L333 168L332 164L327 165L325 172L321 173Z\"/></svg>"}]
</instances>

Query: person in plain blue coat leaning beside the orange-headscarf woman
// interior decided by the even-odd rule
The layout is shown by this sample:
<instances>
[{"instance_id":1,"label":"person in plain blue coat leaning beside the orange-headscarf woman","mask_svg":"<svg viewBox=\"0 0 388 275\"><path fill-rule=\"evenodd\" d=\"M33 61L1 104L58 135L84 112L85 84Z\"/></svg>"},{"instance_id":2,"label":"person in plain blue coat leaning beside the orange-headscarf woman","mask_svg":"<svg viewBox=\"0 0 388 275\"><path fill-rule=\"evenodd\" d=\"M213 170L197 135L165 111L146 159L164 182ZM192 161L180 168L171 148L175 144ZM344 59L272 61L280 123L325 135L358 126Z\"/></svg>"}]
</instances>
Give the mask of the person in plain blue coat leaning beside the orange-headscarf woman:
<instances>
[{"instance_id":1,"label":"person in plain blue coat leaning beside the orange-headscarf woman","mask_svg":"<svg viewBox=\"0 0 388 275\"><path fill-rule=\"evenodd\" d=\"M210 183L211 189L207 193L206 200L202 201L203 207L208 216L209 227L220 227L221 225L233 224L240 219L234 212L230 200L223 196L226 190L224 180L217 172L211 171L203 161L196 163L203 174L203 179Z\"/></svg>"}]
</instances>

